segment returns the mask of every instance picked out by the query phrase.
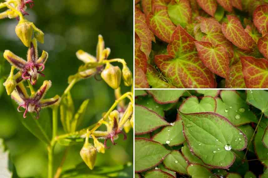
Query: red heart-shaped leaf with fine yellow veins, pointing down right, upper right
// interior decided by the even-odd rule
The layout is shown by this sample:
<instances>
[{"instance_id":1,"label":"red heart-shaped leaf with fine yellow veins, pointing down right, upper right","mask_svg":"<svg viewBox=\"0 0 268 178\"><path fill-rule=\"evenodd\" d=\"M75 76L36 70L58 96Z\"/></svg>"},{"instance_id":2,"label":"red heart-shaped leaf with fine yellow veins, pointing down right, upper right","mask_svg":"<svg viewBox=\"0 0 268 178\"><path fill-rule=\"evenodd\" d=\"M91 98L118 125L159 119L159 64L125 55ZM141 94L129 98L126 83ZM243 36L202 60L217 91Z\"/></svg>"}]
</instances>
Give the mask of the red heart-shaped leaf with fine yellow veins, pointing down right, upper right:
<instances>
[{"instance_id":1,"label":"red heart-shaped leaf with fine yellow veins, pointing down right, upper right","mask_svg":"<svg viewBox=\"0 0 268 178\"><path fill-rule=\"evenodd\" d=\"M230 40L235 46L249 50L252 44L252 38L245 32L240 20L233 16L227 15L228 23L222 23L222 32L224 36Z\"/></svg>"}]
</instances>

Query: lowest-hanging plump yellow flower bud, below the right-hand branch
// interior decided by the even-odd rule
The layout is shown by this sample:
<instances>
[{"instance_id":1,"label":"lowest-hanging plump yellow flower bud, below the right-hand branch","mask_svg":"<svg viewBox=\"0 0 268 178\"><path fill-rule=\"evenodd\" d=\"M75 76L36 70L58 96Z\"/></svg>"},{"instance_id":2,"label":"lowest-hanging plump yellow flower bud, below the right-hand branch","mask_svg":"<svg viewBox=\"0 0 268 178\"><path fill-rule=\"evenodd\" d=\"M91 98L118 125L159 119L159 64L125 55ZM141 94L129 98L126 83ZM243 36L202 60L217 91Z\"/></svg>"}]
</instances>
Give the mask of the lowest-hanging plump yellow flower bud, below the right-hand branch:
<instances>
[{"instance_id":1,"label":"lowest-hanging plump yellow flower bud, below the right-hand branch","mask_svg":"<svg viewBox=\"0 0 268 178\"><path fill-rule=\"evenodd\" d=\"M85 164L92 170L96 162L96 148L90 143L85 142L80 151L80 156L84 160Z\"/></svg>"}]
</instances>

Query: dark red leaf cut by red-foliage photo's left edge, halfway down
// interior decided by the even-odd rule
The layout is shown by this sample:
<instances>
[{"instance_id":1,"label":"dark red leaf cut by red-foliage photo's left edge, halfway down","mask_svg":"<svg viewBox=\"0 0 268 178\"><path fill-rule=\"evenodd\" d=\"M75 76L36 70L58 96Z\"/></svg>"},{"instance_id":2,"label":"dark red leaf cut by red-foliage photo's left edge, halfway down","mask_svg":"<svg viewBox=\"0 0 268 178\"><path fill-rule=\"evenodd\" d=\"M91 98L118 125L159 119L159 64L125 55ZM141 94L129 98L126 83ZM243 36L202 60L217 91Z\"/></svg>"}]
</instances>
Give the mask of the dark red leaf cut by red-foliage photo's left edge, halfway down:
<instances>
[{"instance_id":1,"label":"dark red leaf cut by red-foliage photo's left edge, halfway down","mask_svg":"<svg viewBox=\"0 0 268 178\"><path fill-rule=\"evenodd\" d=\"M144 52L140 50L141 44L139 36L135 33L135 67L139 67L144 73L146 73L147 59Z\"/></svg>"}]
</instances>

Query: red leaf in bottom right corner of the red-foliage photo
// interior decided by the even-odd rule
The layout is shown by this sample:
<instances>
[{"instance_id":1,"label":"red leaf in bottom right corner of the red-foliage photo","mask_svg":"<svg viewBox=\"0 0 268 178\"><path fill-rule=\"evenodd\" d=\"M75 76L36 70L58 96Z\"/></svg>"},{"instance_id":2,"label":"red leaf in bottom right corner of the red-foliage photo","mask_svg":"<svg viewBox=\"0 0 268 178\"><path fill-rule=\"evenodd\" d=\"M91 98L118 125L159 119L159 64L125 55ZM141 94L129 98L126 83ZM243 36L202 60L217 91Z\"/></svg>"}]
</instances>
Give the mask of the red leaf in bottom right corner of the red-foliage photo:
<instances>
[{"instance_id":1,"label":"red leaf in bottom right corner of the red-foliage photo","mask_svg":"<svg viewBox=\"0 0 268 178\"><path fill-rule=\"evenodd\" d=\"M268 61L241 56L242 70L247 88L268 88Z\"/></svg>"}]
</instances>

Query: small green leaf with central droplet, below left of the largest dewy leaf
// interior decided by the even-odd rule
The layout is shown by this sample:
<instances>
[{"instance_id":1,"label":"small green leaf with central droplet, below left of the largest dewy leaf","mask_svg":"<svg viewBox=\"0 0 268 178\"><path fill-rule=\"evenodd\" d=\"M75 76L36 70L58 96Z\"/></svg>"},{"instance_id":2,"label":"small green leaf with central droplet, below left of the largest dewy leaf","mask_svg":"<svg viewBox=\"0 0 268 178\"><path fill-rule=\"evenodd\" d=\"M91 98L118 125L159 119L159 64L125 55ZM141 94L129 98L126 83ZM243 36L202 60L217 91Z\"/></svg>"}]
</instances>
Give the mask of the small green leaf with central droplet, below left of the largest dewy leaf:
<instances>
[{"instance_id":1,"label":"small green leaf with central droplet, below left of the largest dewy leaf","mask_svg":"<svg viewBox=\"0 0 268 178\"><path fill-rule=\"evenodd\" d=\"M179 174L187 174L186 167L188 166L188 164L186 163L185 158L179 151L171 151L171 153L167 155L163 163L165 167L171 171L176 171Z\"/></svg>"}]
</instances>

